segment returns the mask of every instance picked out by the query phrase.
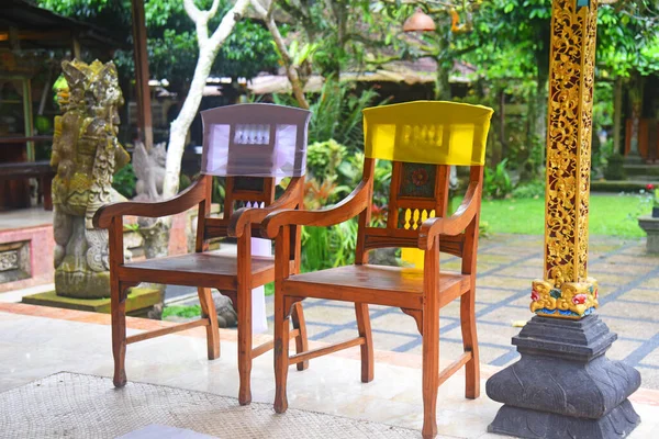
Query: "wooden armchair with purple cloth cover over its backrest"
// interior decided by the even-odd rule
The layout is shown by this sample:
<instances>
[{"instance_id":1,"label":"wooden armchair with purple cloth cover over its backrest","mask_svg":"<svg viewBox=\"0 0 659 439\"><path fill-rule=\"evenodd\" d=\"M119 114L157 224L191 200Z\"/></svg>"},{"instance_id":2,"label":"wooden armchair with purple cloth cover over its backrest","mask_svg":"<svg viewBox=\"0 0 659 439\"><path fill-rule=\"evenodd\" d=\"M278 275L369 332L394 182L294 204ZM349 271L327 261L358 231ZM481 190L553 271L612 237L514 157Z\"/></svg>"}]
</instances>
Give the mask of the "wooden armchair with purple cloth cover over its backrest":
<instances>
[{"instance_id":1,"label":"wooden armchair with purple cloth cover over its backrest","mask_svg":"<svg viewBox=\"0 0 659 439\"><path fill-rule=\"evenodd\" d=\"M211 288L227 295L238 314L239 403L252 401L252 360L272 348L268 342L252 347L252 290L272 282L271 257L253 256L250 238L259 236L259 223L278 209L299 209L304 195L306 126L305 110L269 104L223 106L202 112L204 145L202 176L171 200L152 203L116 203L99 209L93 224L110 235L110 282L114 385L126 383L126 345L166 334L205 326L209 359L220 357L220 334ZM224 216L210 216L213 176L226 176ZM277 177L292 177L286 192L275 201ZM260 209L238 209L241 204ZM196 252L124 263L122 216L161 217L199 207ZM237 238L237 255L208 251L211 238ZM288 270L300 268L300 234L289 244ZM126 337L126 291L139 282L197 286L202 317L199 320ZM300 351L306 348L302 308L293 313ZM300 369L305 364L300 363Z\"/></svg>"}]
</instances>

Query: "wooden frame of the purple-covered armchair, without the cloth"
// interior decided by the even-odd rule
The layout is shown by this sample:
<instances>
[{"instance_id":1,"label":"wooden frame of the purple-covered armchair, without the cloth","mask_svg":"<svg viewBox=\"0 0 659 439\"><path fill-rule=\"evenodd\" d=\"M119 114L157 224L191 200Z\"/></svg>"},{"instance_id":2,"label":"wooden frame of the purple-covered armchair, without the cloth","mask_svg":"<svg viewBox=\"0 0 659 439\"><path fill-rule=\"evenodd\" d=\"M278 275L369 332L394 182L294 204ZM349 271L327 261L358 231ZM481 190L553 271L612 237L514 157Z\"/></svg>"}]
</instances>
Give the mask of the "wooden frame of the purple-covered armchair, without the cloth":
<instances>
[{"instance_id":1,"label":"wooden frame of the purple-covered armchair, without the cloth","mask_svg":"<svg viewBox=\"0 0 659 439\"><path fill-rule=\"evenodd\" d=\"M123 202L109 204L98 210L93 217L93 225L98 228L109 229L110 249L110 283L111 283L111 313L112 313L112 352L114 356L114 385L121 387L126 383L125 352L126 345L146 340L167 334L191 329L198 326L206 328L208 357L210 360L220 357L220 333L217 316L211 295L211 288L216 288L230 296L238 314L238 371L239 391L238 401L242 405L252 401L250 371L252 360L272 349L273 341L258 347L252 346L252 289L271 282L275 279L273 263L270 267L253 271L250 238L259 236L259 223L270 213L279 209L299 209L302 206L304 195L304 177L291 179L286 192L275 201L275 179L258 178L263 180L260 190L242 189L238 184L244 178L226 178L226 196L224 202L224 217L211 217L212 176L201 176L190 188L177 196L163 202ZM248 178L247 178L248 179ZM263 202L263 209L239 209L234 212L235 202ZM237 272L235 275L210 275L200 270L194 273L176 271L177 258L167 257L152 259L169 263L159 270L145 269L139 262L124 263L123 221L125 215L163 217L186 212L198 206L198 226L196 254L208 250L208 243L216 237L237 238ZM300 269L300 229L293 227L290 234L291 249L289 264L290 272ZM187 257L187 256L186 256ZM153 263L152 263L153 266ZM199 320L166 327L148 333L126 337L125 300L127 289L139 282L155 282L164 284L197 286L202 317ZM293 311L295 329L290 337L295 338L299 351L306 350L306 329L302 307ZM305 362L300 362L298 369L306 368Z\"/></svg>"}]
</instances>

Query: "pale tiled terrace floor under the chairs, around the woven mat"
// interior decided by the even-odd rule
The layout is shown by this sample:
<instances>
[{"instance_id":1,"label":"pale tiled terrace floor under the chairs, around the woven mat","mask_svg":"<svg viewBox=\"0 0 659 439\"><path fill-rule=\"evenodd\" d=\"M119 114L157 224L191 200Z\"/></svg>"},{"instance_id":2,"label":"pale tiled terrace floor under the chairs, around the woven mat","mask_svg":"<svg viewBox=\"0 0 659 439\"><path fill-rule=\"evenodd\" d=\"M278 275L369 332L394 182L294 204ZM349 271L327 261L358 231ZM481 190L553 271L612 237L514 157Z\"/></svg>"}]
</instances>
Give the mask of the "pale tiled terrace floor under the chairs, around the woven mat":
<instances>
[{"instance_id":1,"label":"pale tiled terrace floor under the chairs, around the woven mat","mask_svg":"<svg viewBox=\"0 0 659 439\"><path fill-rule=\"evenodd\" d=\"M129 334L170 325L132 317L127 320ZM0 392L60 371L111 376L109 323L110 316L105 314L0 303ZM203 328L130 345L129 380L235 397L238 375L235 331L223 330L221 336L222 357L214 361L205 359ZM269 337L257 338L263 341ZM418 431L423 414L420 357L376 351L376 379L362 384L358 356L359 349L351 348L311 360L304 372L291 368L290 407ZM496 369L482 368L481 389L484 390L484 380ZM253 401L271 404L275 384L271 353L255 360L252 378ZM108 385L111 391L111 384ZM476 401L465 399L463 389L461 372L439 387L438 438L498 438L485 431L500 405L489 399L484 391ZM659 392L641 389L630 399L643 423L629 439L659 437ZM272 412L272 416L278 415ZM421 435L411 436L414 437Z\"/></svg>"}]
</instances>

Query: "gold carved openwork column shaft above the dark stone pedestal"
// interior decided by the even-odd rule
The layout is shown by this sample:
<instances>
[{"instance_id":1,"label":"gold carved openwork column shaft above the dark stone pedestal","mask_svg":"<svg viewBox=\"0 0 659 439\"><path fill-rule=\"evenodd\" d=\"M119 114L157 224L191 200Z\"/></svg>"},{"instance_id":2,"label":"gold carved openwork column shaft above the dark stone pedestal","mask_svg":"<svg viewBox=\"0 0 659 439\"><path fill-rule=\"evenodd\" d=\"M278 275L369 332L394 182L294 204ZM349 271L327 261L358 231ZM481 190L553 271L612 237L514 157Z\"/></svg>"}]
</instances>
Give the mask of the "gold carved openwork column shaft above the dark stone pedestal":
<instances>
[{"instance_id":1,"label":"gold carved openwork column shaft above the dark stone pedestal","mask_svg":"<svg viewBox=\"0 0 659 439\"><path fill-rule=\"evenodd\" d=\"M579 319L597 307L588 277L588 214L597 0L552 0L545 272L530 311Z\"/></svg>"}]
</instances>

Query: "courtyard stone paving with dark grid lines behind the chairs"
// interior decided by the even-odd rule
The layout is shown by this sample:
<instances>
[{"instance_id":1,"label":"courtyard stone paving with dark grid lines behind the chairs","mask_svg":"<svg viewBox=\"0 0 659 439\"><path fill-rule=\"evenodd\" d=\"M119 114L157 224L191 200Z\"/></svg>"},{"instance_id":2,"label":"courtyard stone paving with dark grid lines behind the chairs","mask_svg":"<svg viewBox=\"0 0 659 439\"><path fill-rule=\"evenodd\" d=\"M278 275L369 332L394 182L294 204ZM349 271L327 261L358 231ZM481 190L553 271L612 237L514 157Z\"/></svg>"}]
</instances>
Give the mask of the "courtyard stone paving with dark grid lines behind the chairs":
<instances>
[{"instance_id":1,"label":"courtyard stone paving with dark grid lines behind the chairs","mask_svg":"<svg viewBox=\"0 0 659 439\"><path fill-rule=\"evenodd\" d=\"M645 240L591 237L589 275L600 284L599 314L617 333L608 351L643 375L643 386L659 389L659 257L645 254ZM446 256L440 267L458 270L459 259ZM541 278L543 237L496 235L480 240L476 313L481 362L504 367L518 358L511 338L533 315L530 283ZM272 297L267 297L272 315ZM304 315L311 340L335 342L355 337L354 307L342 302L306 300ZM376 349L421 356L414 320L400 309L370 307ZM459 302L440 312L440 359L448 363L462 351ZM272 328L270 327L270 330Z\"/></svg>"}]
</instances>

